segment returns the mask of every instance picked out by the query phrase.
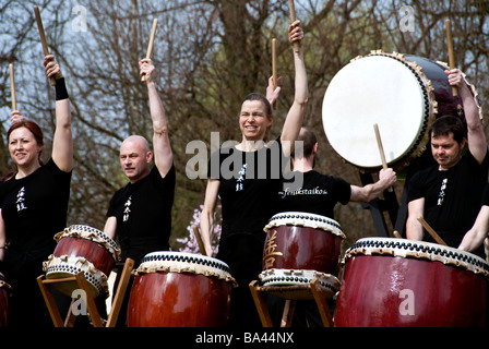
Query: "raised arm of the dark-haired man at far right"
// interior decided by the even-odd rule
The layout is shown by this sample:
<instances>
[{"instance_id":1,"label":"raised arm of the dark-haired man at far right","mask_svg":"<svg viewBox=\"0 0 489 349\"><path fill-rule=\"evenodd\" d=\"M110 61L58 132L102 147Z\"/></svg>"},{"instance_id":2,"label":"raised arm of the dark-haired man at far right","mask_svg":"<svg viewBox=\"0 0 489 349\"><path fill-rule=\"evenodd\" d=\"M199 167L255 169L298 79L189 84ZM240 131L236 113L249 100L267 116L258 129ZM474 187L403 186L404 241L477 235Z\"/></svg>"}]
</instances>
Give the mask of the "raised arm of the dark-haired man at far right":
<instances>
[{"instance_id":1,"label":"raised arm of the dark-haired man at far right","mask_svg":"<svg viewBox=\"0 0 489 349\"><path fill-rule=\"evenodd\" d=\"M481 164L487 153L487 141L475 97L458 69L445 71L445 74L449 76L449 84L457 87L464 106L465 120L467 121L468 149L476 160Z\"/></svg>"}]
</instances>

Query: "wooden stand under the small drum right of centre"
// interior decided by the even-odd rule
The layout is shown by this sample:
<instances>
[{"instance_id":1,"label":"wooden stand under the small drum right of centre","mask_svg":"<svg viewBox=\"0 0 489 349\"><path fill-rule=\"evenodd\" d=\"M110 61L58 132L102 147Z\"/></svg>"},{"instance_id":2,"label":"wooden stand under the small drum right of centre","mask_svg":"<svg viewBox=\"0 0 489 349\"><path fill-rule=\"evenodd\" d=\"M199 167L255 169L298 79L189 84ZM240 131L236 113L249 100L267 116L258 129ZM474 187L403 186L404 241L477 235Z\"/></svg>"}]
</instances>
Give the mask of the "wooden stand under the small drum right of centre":
<instances>
[{"instance_id":1,"label":"wooden stand under the small drum right of centre","mask_svg":"<svg viewBox=\"0 0 489 349\"><path fill-rule=\"evenodd\" d=\"M275 294L285 292L286 294L289 294L287 296L287 298L283 297L286 299L286 302L284 313L282 315L281 327L290 327L294 316L295 303L296 300L299 299L314 300L324 327L333 326L333 316L331 315L330 308L327 306L326 296L324 294L324 291L321 289L321 286L317 278L313 278L307 286L262 287L259 285L258 280L254 280L250 282L249 287L263 327L273 327L273 322L272 318L270 317L270 313L266 308L266 302L262 294L263 292L273 292ZM298 298L294 297L295 292L298 296ZM305 296L305 293L307 296Z\"/></svg>"}]
</instances>

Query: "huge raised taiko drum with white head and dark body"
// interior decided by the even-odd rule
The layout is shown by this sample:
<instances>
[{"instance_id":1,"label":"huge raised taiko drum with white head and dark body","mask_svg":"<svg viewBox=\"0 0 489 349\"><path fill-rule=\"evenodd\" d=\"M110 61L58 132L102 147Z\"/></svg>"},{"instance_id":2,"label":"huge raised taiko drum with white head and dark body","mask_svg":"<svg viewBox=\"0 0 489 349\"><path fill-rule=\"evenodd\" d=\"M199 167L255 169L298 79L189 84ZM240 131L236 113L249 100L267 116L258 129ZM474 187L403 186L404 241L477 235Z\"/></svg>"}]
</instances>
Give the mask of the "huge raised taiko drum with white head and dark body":
<instances>
[{"instance_id":1,"label":"huge raised taiko drum with white head and dark body","mask_svg":"<svg viewBox=\"0 0 489 349\"><path fill-rule=\"evenodd\" d=\"M332 148L362 170L381 169L372 128L378 124L389 167L410 166L427 152L432 122L457 112L461 101L452 95L448 69L442 62L381 50L353 59L324 94L322 120Z\"/></svg>"}]
</instances>

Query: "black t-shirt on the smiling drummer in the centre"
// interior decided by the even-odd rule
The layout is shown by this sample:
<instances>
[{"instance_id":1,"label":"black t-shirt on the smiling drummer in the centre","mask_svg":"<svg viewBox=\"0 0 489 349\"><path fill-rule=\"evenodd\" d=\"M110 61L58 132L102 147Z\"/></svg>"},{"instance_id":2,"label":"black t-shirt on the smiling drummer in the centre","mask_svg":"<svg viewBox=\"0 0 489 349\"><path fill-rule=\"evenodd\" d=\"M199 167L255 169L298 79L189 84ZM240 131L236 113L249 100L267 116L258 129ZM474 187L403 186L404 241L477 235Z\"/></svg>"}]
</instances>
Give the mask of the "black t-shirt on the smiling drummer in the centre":
<instances>
[{"instance_id":1,"label":"black t-shirt on the smiling drummer in the centre","mask_svg":"<svg viewBox=\"0 0 489 349\"><path fill-rule=\"evenodd\" d=\"M257 152L225 147L212 155L208 177L220 182L222 238L236 232L263 233L277 209L282 154L281 142L274 141Z\"/></svg>"}]
</instances>

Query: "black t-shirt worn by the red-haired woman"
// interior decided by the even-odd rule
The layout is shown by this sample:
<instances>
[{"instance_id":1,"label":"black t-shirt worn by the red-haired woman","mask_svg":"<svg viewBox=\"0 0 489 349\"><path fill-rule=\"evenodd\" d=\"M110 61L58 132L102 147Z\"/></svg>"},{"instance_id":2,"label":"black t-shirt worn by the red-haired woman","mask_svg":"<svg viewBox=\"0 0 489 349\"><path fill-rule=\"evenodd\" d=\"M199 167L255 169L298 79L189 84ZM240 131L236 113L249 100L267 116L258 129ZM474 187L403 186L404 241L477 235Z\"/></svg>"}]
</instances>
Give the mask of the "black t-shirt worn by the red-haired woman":
<instances>
[{"instance_id":1,"label":"black t-shirt worn by the red-haired woman","mask_svg":"<svg viewBox=\"0 0 489 349\"><path fill-rule=\"evenodd\" d=\"M70 181L71 172L61 171L49 159L29 176L0 184L0 207L12 251L56 246L53 236L67 226Z\"/></svg>"}]
</instances>

